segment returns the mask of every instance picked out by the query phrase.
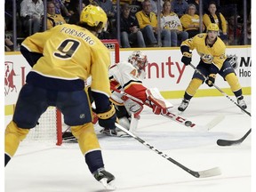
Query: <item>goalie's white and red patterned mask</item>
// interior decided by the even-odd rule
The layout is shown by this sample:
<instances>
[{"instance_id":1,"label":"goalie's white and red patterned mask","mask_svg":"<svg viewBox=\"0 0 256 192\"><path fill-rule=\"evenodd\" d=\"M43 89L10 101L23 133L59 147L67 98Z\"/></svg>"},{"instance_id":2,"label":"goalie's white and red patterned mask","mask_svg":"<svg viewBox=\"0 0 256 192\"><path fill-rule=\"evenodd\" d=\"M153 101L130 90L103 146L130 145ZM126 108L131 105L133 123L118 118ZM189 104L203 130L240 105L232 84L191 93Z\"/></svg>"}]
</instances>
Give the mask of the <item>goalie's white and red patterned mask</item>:
<instances>
[{"instance_id":1,"label":"goalie's white and red patterned mask","mask_svg":"<svg viewBox=\"0 0 256 192\"><path fill-rule=\"evenodd\" d=\"M130 62L132 66L138 70L145 70L146 66L148 66L148 57L143 52L134 51L129 56L128 62Z\"/></svg>"}]
</instances>

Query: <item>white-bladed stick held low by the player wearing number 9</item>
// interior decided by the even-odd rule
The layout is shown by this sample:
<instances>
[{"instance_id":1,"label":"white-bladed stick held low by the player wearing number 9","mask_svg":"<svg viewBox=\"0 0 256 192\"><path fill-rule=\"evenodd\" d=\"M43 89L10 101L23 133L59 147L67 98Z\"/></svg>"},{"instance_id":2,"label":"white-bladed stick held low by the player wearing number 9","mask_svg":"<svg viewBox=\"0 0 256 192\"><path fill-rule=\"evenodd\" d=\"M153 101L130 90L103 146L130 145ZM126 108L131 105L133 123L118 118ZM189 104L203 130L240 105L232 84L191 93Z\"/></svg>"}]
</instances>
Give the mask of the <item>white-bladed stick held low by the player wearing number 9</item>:
<instances>
[{"instance_id":1,"label":"white-bladed stick held low by the player wearing number 9","mask_svg":"<svg viewBox=\"0 0 256 192\"><path fill-rule=\"evenodd\" d=\"M184 166L183 164L180 164L179 162L175 161L174 159L172 159L172 157L167 156L166 154L164 154L162 151L158 150L157 148L155 148L154 146L150 145L148 142L146 142L145 140L140 139L140 137L136 136L134 133L129 132L128 130L126 130L123 126L121 126L120 124L116 124L116 127L118 127L120 130L122 130L123 132L129 134L132 136L132 138L134 138L135 140L138 140L140 143L142 143L144 146L146 146L147 148L153 150L156 152L156 154L163 156L165 159L167 159L168 161L172 162L172 164L176 164L177 166L179 166L181 169L183 169L185 172L188 172L189 174L193 175L196 178L206 178L206 177L213 177L213 176L217 176L220 175L220 168L219 167L214 167L212 169L208 169L208 170L204 170L201 172L195 172L192 171L190 169L188 169L188 167Z\"/></svg>"}]
</instances>

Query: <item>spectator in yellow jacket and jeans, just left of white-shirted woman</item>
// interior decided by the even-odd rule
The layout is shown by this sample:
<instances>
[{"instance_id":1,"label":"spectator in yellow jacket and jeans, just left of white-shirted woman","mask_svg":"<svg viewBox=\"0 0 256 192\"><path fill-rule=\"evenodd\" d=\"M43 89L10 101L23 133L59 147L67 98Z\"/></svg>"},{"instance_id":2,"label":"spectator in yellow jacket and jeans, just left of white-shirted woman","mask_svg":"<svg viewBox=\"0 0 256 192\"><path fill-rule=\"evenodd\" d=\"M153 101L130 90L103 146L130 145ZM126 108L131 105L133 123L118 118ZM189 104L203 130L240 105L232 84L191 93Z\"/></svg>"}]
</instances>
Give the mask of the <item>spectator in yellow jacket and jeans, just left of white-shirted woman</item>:
<instances>
[{"instance_id":1,"label":"spectator in yellow jacket and jeans, just left of white-shirted woman","mask_svg":"<svg viewBox=\"0 0 256 192\"><path fill-rule=\"evenodd\" d=\"M151 12L150 0L145 0L142 3L142 10L135 14L140 30L144 36L146 44L150 47L158 46L156 36L157 36L157 18L154 12ZM169 36L166 30L161 32L161 39L165 44L171 44L171 36Z\"/></svg>"}]
</instances>

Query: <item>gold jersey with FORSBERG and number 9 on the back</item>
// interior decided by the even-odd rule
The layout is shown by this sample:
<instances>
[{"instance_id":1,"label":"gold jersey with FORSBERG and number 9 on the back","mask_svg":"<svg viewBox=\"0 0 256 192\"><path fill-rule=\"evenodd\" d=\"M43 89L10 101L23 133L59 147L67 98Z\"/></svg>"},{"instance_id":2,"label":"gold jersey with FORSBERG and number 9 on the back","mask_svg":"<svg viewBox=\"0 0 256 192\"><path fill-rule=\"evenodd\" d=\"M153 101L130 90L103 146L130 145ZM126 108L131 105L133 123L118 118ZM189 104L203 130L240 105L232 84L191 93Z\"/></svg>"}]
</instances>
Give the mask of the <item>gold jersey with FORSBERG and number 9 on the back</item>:
<instances>
[{"instance_id":1,"label":"gold jersey with FORSBERG and number 9 on the back","mask_svg":"<svg viewBox=\"0 0 256 192\"><path fill-rule=\"evenodd\" d=\"M44 55L31 71L62 80L85 80L92 75L92 90L110 95L110 54L89 30L63 24L28 36L22 45Z\"/></svg>"}]
</instances>

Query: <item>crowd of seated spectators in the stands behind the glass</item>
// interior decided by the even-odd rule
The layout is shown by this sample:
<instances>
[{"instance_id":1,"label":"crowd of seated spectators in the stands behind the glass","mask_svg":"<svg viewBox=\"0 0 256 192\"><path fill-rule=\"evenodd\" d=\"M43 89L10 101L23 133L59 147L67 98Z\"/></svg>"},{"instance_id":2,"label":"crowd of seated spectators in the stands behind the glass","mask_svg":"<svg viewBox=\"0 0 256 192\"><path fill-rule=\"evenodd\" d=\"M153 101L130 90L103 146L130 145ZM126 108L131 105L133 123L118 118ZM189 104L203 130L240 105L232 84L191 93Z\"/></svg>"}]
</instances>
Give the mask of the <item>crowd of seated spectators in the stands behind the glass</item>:
<instances>
[{"instance_id":1,"label":"crowd of seated spectators in the stands behind the glass","mask_svg":"<svg viewBox=\"0 0 256 192\"><path fill-rule=\"evenodd\" d=\"M199 0L161 0L157 12L156 0L120 0L120 17L116 15L115 0L47 0L46 28L44 27L43 0L16 0L17 36L24 39L36 32L53 28L63 23L76 24L80 10L87 4L99 5L108 16L108 29L100 39L114 39L116 20L120 19L120 46L130 47L173 47L205 32L210 23L217 23L220 38L228 45L244 44L244 24L247 27L247 44L251 44L251 12L247 23L239 12L234 15L220 10L220 1L204 0L203 25L200 26ZM250 7L251 8L251 7ZM157 16L159 18L157 18ZM159 21L160 20L160 21ZM158 26L160 23L160 26ZM12 1L5 0L5 32L12 28ZM12 35L11 35L12 36ZM160 36L160 37L159 37ZM5 51L12 51L12 37L5 38ZM8 45L11 44L11 45Z\"/></svg>"}]
</instances>

